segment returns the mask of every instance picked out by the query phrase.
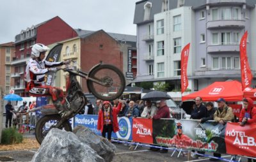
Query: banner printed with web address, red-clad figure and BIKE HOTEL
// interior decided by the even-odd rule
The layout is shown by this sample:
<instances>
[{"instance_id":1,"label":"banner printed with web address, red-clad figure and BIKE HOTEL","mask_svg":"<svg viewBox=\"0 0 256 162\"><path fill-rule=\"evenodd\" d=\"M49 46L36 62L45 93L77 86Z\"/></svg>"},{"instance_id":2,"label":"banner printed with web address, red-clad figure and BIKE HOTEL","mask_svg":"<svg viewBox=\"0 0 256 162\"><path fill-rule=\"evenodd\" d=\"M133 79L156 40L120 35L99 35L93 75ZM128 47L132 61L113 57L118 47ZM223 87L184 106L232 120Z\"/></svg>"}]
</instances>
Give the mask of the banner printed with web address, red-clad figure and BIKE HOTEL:
<instances>
[{"instance_id":1,"label":"banner printed with web address, red-clad figure and BIKE HOTEL","mask_svg":"<svg viewBox=\"0 0 256 162\"><path fill-rule=\"evenodd\" d=\"M207 152L226 152L223 147L225 127L214 122L201 124L191 120L161 119L153 121L153 132L154 144Z\"/></svg>"}]
</instances>

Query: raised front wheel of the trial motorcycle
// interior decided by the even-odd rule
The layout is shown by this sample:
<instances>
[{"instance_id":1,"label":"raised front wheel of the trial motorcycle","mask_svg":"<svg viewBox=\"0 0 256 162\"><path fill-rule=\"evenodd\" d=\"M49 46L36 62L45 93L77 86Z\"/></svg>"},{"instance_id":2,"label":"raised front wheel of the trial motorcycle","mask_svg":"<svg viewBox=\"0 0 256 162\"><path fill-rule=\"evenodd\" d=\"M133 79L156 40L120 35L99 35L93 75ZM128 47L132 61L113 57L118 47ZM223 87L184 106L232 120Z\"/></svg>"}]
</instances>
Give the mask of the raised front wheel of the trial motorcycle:
<instances>
[{"instance_id":1,"label":"raised front wheel of the trial motorcycle","mask_svg":"<svg viewBox=\"0 0 256 162\"><path fill-rule=\"evenodd\" d=\"M124 74L111 64L100 64L90 71L88 77L88 89L96 98L111 101L119 98L124 92ZM100 84L90 78L97 80Z\"/></svg>"}]
</instances>

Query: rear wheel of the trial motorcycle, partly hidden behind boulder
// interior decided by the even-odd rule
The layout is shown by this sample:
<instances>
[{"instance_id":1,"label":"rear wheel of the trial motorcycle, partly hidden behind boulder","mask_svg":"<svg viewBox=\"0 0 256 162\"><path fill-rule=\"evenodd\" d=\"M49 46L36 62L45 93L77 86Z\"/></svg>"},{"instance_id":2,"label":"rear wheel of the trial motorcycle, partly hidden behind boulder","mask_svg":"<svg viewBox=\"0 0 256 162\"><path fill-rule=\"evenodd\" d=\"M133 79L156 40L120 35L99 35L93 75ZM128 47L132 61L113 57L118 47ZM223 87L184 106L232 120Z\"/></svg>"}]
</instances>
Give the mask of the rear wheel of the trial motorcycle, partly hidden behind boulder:
<instances>
[{"instance_id":1,"label":"rear wheel of the trial motorcycle, partly hidden behind boulder","mask_svg":"<svg viewBox=\"0 0 256 162\"><path fill-rule=\"evenodd\" d=\"M42 144L47 133L52 129L55 128L58 121L61 120L60 115L45 115L41 117L39 121L36 123L35 128L35 135L36 140L39 144ZM69 121L63 122L59 129L65 129L66 131L72 131L72 127Z\"/></svg>"}]
</instances>

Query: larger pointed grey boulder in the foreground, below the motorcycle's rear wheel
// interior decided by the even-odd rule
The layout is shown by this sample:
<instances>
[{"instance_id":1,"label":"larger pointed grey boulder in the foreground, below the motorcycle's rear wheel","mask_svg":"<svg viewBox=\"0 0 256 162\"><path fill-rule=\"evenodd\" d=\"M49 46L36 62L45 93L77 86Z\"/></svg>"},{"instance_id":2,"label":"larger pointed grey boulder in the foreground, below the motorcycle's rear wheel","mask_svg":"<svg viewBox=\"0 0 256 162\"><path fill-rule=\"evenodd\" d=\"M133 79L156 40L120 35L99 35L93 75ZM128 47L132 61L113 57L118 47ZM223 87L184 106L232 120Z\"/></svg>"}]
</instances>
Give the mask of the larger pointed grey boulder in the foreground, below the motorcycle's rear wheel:
<instances>
[{"instance_id":1,"label":"larger pointed grey boulder in the foreground, below the motorcycle's rear wheel","mask_svg":"<svg viewBox=\"0 0 256 162\"><path fill-rule=\"evenodd\" d=\"M74 133L54 128L47 133L32 161L104 162L104 159L90 146L80 142Z\"/></svg>"}]
</instances>

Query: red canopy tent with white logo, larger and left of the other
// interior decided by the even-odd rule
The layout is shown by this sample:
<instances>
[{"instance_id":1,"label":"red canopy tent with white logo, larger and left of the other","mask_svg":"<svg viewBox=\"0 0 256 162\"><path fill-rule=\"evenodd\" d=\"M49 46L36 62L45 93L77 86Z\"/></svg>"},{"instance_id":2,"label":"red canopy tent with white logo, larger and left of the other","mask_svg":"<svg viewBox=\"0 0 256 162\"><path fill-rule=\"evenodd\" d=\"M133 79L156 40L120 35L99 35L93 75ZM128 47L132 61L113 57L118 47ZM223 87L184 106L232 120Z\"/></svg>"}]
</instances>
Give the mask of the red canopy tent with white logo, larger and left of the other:
<instances>
[{"instance_id":1,"label":"red canopy tent with white logo, larger and left of the other","mask_svg":"<svg viewBox=\"0 0 256 162\"><path fill-rule=\"evenodd\" d=\"M213 84L205 87L200 91L182 96L182 101L195 99L198 96L200 96L203 101L216 101L218 98L224 98L226 101L242 101L242 85L236 80L227 82L214 82Z\"/></svg>"}]
</instances>

